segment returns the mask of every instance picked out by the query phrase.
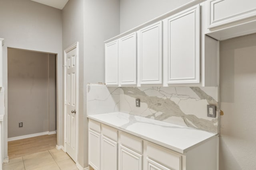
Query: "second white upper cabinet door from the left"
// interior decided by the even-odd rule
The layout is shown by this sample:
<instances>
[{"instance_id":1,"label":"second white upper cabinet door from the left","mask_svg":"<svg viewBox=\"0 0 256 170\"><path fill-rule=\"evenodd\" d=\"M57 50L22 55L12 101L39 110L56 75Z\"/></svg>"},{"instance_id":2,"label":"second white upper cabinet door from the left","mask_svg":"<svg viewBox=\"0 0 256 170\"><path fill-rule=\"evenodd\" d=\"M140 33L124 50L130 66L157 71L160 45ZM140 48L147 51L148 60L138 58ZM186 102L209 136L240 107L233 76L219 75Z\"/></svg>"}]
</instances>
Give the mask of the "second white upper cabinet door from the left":
<instances>
[{"instance_id":1,"label":"second white upper cabinet door from the left","mask_svg":"<svg viewBox=\"0 0 256 170\"><path fill-rule=\"evenodd\" d=\"M119 80L121 85L137 84L136 32L119 39Z\"/></svg>"}]
</instances>

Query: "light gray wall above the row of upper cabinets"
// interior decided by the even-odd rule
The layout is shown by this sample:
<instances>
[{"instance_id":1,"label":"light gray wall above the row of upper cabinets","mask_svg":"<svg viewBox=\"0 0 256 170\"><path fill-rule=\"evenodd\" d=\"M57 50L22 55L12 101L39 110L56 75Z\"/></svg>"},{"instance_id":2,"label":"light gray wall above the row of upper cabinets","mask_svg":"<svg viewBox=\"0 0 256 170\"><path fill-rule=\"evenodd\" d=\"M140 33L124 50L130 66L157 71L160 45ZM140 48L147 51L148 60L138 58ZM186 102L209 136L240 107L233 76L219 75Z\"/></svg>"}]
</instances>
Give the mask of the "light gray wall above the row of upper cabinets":
<instances>
[{"instance_id":1,"label":"light gray wall above the row of upper cabinets","mask_svg":"<svg viewBox=\"0 0 256 170\"><path fill-rule=\"evenodd\" d=\"M192 0L120 0L120 33L170 12Z\"/></svg>"}]
</instances>

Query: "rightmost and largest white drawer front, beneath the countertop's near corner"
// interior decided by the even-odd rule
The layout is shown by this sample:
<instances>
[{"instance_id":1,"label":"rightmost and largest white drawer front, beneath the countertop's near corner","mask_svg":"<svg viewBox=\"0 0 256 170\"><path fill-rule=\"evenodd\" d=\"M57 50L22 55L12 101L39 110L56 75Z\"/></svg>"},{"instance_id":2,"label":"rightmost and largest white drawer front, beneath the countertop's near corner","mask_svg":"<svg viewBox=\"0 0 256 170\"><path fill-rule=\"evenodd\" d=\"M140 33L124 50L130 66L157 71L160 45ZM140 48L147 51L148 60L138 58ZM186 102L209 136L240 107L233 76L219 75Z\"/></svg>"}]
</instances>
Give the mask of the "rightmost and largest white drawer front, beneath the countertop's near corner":
<instances>
[{"instance_id":1,"label":"rightmost and largest white drawer front, beneath the countertop's near corner","mask_svg":"<svg viewBox=\"0 0 256 170\"><path fill-rule=\"evenodd\" d=\"M181 170L181 155L152 143L147 143L146 149L148 158L156 160L163 166L168 166L170 169Z\"/></svg>"}]
</instances>

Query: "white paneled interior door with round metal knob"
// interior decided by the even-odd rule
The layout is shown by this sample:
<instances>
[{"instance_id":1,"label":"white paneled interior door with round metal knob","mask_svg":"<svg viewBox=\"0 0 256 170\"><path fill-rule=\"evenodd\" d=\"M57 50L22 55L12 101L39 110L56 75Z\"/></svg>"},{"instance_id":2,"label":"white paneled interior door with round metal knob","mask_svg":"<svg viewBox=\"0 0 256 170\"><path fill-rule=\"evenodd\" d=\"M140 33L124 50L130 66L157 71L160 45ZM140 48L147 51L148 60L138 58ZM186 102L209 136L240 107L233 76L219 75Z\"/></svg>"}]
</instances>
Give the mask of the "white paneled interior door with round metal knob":
<instances>
[{"instance_id":1,"label":"white paneled interior door with round metal knob","mask_svg":"<svg viewBox=\"0 0 256 170\"><path fill-rule=\"evenodd\" d=\"M66 152L76 161L77 56L76 48L66 53Z\"/></svg>"}]
</instances>

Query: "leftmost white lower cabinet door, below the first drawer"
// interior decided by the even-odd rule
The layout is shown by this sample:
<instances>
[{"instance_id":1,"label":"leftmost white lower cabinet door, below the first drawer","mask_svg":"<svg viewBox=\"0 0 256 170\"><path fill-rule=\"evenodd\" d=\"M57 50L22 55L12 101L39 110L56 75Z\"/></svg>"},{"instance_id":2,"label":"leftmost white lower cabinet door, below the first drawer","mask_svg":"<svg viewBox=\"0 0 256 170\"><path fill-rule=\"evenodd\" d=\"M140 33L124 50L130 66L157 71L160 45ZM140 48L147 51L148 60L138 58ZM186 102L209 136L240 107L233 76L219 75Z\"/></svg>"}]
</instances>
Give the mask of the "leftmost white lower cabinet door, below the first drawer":
<instances>
[{"instance_id":1,"label":"leftmost white lower cabinet door, below the first drawer","mask_svg":"<svg viewBox=\"0 0 256 170\"><path fill-rule=\"evenodd\" d=\"M89 130L89 164L94 170L100 170L100 134Z\"/></svg>"}]
</instances>

